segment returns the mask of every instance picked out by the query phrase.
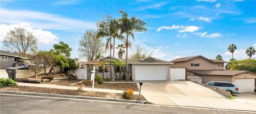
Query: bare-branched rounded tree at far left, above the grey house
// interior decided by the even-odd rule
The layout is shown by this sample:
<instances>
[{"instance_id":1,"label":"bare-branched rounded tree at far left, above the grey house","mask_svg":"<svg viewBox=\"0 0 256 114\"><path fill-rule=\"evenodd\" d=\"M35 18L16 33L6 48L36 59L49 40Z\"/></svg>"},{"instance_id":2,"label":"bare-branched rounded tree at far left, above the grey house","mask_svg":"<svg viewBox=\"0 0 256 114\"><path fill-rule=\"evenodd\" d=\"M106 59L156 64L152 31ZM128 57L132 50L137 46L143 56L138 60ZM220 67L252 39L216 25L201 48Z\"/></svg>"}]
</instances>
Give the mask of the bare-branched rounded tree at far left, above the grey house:
<instances>
[{"instance_id":1,"label":"bare-branched rounded tree at far left, above the grey house","mask_svg":"<svg viewBox=\"0 0 256 114\"><path fill-rule=\"evenodd\" d=\"M37 39L26 29L15 28L7 33L3 39L3 45L6 50L19 52L21 56L26 56L31 49L37 47Z\"/></svg>"}]
</instances>

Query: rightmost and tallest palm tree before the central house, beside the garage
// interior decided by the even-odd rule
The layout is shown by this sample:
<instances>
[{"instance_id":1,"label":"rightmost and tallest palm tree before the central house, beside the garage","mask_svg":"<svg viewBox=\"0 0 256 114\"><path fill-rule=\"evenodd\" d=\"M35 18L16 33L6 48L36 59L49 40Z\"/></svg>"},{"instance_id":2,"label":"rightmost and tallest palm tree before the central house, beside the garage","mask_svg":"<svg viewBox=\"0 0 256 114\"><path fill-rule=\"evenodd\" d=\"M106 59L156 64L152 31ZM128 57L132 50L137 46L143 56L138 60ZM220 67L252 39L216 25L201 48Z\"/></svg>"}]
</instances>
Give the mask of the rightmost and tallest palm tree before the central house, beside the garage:
<instances>
[{"instance_id":1,"label":"rightmost and tallest palm tree before the central house, beside the garage","mask_svg":"<svg viewBox=\"0 0 256 114\"><path fill-rule=\"evenodd\" d=\"M125 33L126 34L126 41L125 41L125 47L126 47L126 74L125 78L128 80L128 43L129 39L128 37L131 36L134 40L134 34L133 32L138 31L138 32L146 32L147 29L145 28L146 23L138 19L137 17L128 17L128 14L124 12L123 10L119 11L122 14L122 17L119 18L119 28L121 29L121 34Z\"/></svg>"}]
</instances>

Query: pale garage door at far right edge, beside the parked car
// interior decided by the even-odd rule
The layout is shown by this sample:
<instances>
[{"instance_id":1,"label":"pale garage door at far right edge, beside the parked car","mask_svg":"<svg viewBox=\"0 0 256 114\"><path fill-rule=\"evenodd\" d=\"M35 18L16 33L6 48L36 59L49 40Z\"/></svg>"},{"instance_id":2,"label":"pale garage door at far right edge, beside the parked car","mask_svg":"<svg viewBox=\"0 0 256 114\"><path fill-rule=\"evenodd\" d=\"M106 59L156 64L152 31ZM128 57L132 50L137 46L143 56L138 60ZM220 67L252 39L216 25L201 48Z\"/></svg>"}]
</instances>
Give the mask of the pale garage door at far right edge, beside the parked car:
<instances>
[{"instance_id":1,"label":"pale garage door at far right edge, beside the parked car","mask_svg":"<svg viewBox=\"0 0 256 114\"><path fill-rule=\"evenodd\" d=\"M239 92L253 92L255 79L235 79Z\"/></svg>"}]
</instances>

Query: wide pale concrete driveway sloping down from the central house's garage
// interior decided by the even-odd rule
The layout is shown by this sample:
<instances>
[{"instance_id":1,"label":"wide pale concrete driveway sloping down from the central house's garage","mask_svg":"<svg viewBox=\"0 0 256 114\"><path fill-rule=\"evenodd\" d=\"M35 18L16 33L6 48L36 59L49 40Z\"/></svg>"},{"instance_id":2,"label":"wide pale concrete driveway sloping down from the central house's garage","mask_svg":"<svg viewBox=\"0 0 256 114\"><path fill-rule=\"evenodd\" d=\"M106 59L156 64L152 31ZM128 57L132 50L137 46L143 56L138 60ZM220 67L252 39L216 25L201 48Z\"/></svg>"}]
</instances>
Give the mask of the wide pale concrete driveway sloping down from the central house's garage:
<instances>
[{"instance_id":1,"label":"wide pale concrete driveway sloping down from the central house's garage","mask_svg":"<svg viewBox=\"0 0 256 114\"><path fill-rule=\"evenodd\" d=\"M190 81L143 81L141 94L154 104L256 111L254 105L231 100Z\"/></svg>"}]
</instances>

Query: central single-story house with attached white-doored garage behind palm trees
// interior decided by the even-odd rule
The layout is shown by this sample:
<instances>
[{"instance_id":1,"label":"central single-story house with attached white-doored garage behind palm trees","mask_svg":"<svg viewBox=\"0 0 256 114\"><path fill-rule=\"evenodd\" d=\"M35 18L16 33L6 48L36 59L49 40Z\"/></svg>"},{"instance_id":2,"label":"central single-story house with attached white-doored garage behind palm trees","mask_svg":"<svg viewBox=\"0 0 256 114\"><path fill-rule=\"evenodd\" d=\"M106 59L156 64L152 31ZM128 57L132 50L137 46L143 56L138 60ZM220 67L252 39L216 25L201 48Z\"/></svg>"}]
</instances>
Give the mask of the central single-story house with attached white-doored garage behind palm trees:
<instances>
[{"instance_id":1,"label":"central single-story house with attached white-doored garage behind palm trees","mask_svg":"<svg viewBox=\"0 0 256 114\"><path fill-rule=\"evenodd\" d=\"M103 78L110 78L109 56L94 60L92 62L83 63L87 65L87 77L91 77L90 68L94 66L98 74ZM118 59L111 57L111 60L118 60L125 63L125 59ZM132 81L163 81L170 80L170 65L172 63L160 60L154 57L146 57L143 59L128 59L128 75L131 75ZM125 68L125 67L124 67ZM112 77L119 77L119 73L123 70L116 68L116 75L114 67L111 68ZM123 73L121 74L123 75Z\"/></svg>"}]
</instances>

